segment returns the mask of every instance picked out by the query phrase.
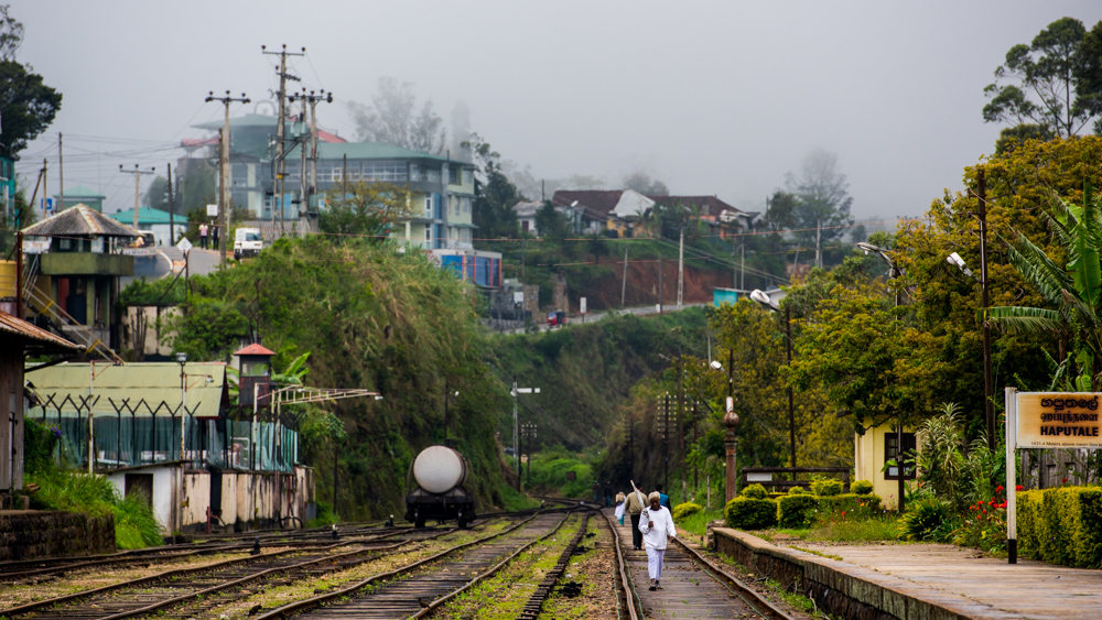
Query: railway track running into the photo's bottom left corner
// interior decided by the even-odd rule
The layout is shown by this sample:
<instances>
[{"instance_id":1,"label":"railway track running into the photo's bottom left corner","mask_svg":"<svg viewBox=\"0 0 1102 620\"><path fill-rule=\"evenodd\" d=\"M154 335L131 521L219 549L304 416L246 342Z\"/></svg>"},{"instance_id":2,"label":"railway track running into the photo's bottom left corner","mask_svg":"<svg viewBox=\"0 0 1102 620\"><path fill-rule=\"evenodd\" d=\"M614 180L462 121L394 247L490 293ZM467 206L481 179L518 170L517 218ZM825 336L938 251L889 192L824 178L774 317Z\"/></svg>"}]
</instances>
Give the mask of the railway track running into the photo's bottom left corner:
<instances>
[{"instance_id":1,"label":"railway track running into the photo's bottom left corner","mask_svg":"<svg viewBox=\"0 0 1102 620\"><path fill-rule=\"evenodd\" d=\"M304 575L313 578L344 570L376 559L411 542L425 541L452 531L454 530L410 529L401 532L407 534L408 539L386 541L399 533L392 531L374 539L349 539L316 545L312 550L284 550L201 567L171 569L149 577L2 609L0 617L18 618L34 614L36 619L121 620L154 612L164 614L166 610L187 606L184 617L191 618L206 609L231 602L235 597L247 596L247 592L242 592L246 587L273 585L277 579L288 576ZM357 548L337 551L346 546ZM194 605L196 601L203 601L203 605Z\"/></svg>"}]
</instances>

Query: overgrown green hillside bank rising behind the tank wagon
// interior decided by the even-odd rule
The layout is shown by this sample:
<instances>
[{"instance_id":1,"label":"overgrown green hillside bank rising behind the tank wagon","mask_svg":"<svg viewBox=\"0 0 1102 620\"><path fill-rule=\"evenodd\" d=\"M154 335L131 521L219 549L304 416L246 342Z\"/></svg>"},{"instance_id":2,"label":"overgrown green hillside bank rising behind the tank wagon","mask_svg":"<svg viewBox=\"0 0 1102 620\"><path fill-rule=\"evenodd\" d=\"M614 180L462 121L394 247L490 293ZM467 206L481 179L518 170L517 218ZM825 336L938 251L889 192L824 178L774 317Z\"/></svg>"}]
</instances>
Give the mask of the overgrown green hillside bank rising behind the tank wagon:
<instances>
[{"instance_id":1,"label":"overgrown green hillside bank rising behind the tank wagon","mask_svg":"<svg viewBox=\"0 0 1102 620\"><path fill-rule=\"evenodd\" d=\"M327 405L343 423L336 428L302 421L302 460L317 468L326 500L337 454L342 519L400 508L410 461L444 438L445 379L460 392L450 403L451 436L471 459L468 490L480 510L501 505L494 437L507 395L486 373L471 290L420 252L361 240L280 240L253 260L194 279L190 311L176 325L177 350L227 359L255 329L277 352L277 368L309 351L312 385L383 394Z\"/></svg>"}]
</instances>

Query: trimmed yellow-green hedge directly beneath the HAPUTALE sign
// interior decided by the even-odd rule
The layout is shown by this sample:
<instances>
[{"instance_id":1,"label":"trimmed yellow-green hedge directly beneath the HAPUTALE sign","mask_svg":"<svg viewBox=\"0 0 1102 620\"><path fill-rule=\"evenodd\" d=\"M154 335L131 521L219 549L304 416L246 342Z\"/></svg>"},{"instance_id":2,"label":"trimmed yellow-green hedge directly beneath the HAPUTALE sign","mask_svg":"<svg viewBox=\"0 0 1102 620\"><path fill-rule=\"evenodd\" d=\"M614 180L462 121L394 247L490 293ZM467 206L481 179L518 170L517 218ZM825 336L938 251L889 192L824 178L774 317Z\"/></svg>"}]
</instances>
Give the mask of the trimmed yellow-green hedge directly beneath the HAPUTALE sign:
<instances>
[{"instance_id":1,"label":"trimmed yellow-green hedge directly beneath the HAPUTALE sign","mask_svg":"<svg viewBox=\"0 0 1102 620\"><path fill-rule=\"evenodd\" d=\"M1102 568L1102 488L1059 487L1017 494L1018 550L1035 559Z\"/></svg>"}]
</instances>

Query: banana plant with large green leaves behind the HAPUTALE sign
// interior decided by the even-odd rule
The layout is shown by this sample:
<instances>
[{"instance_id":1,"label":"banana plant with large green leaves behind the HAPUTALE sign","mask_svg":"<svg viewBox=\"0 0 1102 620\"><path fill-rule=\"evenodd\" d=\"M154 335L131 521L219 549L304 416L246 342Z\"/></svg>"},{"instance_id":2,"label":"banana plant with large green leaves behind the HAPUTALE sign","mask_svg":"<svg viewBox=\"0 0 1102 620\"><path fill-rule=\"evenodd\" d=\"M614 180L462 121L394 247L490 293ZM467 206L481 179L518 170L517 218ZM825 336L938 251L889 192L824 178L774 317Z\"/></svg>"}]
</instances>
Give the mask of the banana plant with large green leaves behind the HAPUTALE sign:
<instances>
[{"instance_id":1,"label":"banana plant with large green leaves behind the HAPUTALE sign","mask_svg":"<svg viewBox=\"0 0 1102 620\"><path fill-rule=\"evenodd\" d=\"M1071 341L1071 353L1054 376L1054 389L1098 390L1102 383L1102 202L1090 184L1082 206L1056 197L1046 214L1052 233L1068 255L1061 267L1020 231L1006 242L1011 263L1050 308L1000 306L991 320L1012 333L1050 331ZM1006 241L1004 239L1004 241ZM1055 308L1055 309L1054 309Z\"/></svg>"}]
</instances>

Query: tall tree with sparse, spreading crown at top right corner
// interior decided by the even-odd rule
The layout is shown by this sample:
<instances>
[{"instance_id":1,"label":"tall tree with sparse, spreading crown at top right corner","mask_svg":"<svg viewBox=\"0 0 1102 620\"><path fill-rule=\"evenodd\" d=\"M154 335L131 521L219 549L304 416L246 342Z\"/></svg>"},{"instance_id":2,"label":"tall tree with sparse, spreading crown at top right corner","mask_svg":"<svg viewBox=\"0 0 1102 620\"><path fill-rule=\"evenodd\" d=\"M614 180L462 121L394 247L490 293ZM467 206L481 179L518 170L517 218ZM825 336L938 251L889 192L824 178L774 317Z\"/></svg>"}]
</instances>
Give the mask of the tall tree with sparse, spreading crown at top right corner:
<instances>
[{"instance_id":1,"label":"tall tree with sparse, spreading crown at top right corner","mask_svg":"<svg viewBox=\"0 0 1102 620\"><path fill-rule=\"evenodd\" d=\"M1098 94L1089 87L1102 80L1102 66L1089 57L1093 47L1083 46L1085 35L1081 21L1061 18L1029 45L1011 47L1006 62L995 69L996 81L983 89L990 99L983 120L1034 124L1061 138L1077 135L1100 111Z\"/></svg>"}]
</instances>

